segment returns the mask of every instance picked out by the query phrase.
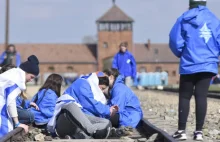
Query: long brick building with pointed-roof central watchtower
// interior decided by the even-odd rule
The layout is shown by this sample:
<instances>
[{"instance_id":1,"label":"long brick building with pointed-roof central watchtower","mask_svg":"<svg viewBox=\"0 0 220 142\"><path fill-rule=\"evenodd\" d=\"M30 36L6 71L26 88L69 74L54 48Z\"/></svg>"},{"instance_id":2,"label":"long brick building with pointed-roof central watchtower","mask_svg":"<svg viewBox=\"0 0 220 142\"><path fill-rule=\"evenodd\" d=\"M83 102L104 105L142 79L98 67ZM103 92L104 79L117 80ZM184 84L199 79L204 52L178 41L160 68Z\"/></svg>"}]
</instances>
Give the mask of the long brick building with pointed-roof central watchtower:
<instances>
[{"instance_id":1,"label":"long brick building with pointed-roof central watchtower","mask_svg":"<svg viewBox=\"0 0 220 142\"><path fill-rule=\"evenodd\" d=\"M133 42L134 20L117 5L113 5L97 21L97 44L16 44L22 60L35 54L40 60L41 75L50 72L75 72L86 74L111 67L113 56L121 42L127 42L128 50L137 62L137 71L167 71L169 84L178 83L179 59L170 51L168 44ZM4 46L0 45L0 52Z\"/></svg>"}]
</instances>

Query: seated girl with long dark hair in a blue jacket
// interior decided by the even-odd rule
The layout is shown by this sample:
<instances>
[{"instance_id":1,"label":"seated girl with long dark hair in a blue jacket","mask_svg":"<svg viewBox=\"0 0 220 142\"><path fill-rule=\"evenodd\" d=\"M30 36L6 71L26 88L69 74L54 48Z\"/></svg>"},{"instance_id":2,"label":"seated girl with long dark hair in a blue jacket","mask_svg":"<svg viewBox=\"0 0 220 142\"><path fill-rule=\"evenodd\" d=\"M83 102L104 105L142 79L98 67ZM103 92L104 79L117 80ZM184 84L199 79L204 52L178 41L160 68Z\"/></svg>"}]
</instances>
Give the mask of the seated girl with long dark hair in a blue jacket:
<instances>
[{"instance_id":1,"label":"seated girl with long dark hair in a blue jacket","mask_svg":"<svg viewBox=\"0 0 220 142\"><path fill-rule=\"evenodd\" d=\"M17 98L18 119L25 124L31 123L34 115L34 124L36 126L45 126L53 116L56 100L60 96L63 78L58 74L51 74L44 85L39 89L32 101L25 101L22 105L20 97ZM27 110L28 109L28 110Z\"/></svg>"}]
</instances>

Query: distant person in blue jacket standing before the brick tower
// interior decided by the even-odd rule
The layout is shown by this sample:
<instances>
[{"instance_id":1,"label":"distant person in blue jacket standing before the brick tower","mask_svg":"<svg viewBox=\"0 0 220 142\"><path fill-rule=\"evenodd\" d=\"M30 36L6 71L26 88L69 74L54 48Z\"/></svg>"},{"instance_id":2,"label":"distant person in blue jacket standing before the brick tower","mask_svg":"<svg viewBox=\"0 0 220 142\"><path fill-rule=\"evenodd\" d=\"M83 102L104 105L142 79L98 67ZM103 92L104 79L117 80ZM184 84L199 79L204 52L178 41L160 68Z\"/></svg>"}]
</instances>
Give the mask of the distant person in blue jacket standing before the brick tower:
<instances>
[{"instance_id":1,"label":"distant person in blue jacket standing before the brick tower","mask_svg":"<svg viewBox=\"0 0 220 142\"><path fill-rule=\"evenodd\" d=\"M134 56L127 50L128 44L122 42L119 52L114 56L112 68L118 69L121 75L125 76L125 84L132 86L136 79L136 61Z\"/></svg>"}]
</instances>

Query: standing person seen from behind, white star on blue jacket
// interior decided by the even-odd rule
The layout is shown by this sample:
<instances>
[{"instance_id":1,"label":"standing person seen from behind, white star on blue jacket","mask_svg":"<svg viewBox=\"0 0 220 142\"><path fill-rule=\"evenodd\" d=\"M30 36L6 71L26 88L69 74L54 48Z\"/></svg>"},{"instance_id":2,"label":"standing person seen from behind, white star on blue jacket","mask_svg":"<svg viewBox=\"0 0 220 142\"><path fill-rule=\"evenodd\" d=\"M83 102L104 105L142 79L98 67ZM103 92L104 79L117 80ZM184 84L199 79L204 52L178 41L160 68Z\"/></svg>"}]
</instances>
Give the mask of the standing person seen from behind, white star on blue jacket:
<instances>
[{"instance_id":1,"label":"standing person seen from behind, white star on blue jacket","mask_svg":"<svg viewBox=\"0 0 220 142\"><path fill-rule=\"evenodd\" d=\"M206 0L190 0L189 10L176 21L170 32L170 49L180 58L179 122L173 135L186 140L190 99L195 91L195 140L203 140L202 127L207 111L210 81L218 73L220 21L206 7Z\"/></svg>"}]
</instances>

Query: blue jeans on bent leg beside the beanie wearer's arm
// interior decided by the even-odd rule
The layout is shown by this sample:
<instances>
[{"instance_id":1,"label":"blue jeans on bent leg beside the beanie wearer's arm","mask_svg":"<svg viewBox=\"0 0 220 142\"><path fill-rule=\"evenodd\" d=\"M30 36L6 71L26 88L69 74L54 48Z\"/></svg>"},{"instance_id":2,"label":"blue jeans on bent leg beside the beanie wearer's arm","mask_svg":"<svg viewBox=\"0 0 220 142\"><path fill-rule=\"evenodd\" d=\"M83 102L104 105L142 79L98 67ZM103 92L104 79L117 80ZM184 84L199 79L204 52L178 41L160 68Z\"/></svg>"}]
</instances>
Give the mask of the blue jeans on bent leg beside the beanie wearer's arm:
<instances>
[{"instance_id":1,"label":"blue jeans on bent leg beside the beanie wearer's arm","mask_svg":"<svg viewBox=\"0 0 220 142\"><path fill-rule=\"evenodd\" d=\"M18 111L18 120L23 124L31 124L34 122L34 114L30 111L30 109L23 109L21 107L17 107Z\"/></svg>"}]
</instances>

